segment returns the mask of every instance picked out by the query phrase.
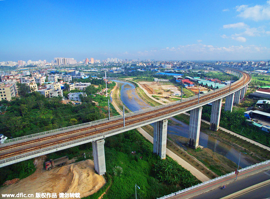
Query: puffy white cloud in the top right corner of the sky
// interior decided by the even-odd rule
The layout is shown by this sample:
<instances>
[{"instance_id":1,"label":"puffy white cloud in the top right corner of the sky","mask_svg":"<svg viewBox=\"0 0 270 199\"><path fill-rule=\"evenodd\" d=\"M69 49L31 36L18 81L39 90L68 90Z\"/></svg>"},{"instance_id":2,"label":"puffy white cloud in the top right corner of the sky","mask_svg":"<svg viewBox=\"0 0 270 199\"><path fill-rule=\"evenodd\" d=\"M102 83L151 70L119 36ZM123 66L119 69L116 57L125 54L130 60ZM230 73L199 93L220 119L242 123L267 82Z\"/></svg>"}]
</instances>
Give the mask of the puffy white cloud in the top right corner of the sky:
<instances>
[{"instance_id":1,"label":"puffy white cloud in the top right corner of the sky","mask_svg":"<svg viewBox=\"0 0 270 199\"><path fill-rule=\"evenodd\" d=\"M235 7L237 12L240 12L237 16L244 19L252 19L254 21L270 20L270 7L266 5L255 5L248 7L248 5L240 5Z\"/></svg>"}]
</instances>

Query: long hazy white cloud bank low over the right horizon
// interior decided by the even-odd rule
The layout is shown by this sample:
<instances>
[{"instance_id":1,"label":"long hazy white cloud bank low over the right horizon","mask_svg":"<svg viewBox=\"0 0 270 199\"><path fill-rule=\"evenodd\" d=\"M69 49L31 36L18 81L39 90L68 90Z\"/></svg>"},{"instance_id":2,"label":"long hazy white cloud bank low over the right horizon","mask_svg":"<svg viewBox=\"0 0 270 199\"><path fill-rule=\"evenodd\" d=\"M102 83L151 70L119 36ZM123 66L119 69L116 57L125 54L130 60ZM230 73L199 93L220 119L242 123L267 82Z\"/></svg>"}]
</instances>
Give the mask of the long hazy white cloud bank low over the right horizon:
<instances>
[{"instance_id":1,"label":"long hazy white cloud bank low over the right horizon","mask_svg":"<svg viewBox=\"0 0 270 199\"><path fill-rule=\"evenodd\" d=\"M235 37L237 39L237 37ZM256 45L213 46L202 43L168 47L156 51L140 52L140 57L172 60L245 60L267 59L270 49ZM134 56L138 56L134 54Z\"/></svg>"}]
</instances>

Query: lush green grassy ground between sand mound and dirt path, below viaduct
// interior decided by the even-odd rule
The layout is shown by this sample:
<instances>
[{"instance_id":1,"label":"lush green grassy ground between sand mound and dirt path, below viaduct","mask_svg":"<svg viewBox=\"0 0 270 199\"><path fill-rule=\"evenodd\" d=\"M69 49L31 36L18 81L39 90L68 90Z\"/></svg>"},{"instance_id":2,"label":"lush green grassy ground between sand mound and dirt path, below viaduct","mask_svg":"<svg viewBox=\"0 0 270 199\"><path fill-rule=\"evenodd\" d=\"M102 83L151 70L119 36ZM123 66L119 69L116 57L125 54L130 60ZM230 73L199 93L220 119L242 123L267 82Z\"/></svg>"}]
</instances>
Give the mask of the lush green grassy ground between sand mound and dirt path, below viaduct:
<instances>
[{"instance_id":1,"label":"lush green grassy ground between sand mound and dirt path, below viaduct","mask_svg":"<svg viewBox=\"0 0 270 199\"><path fill-rule=\"evenodd\" d=\"M131 154L131 151L136 151L136 154ZM107 138L105 141L105 158L107 181L110 184L110 180L112 180L112 183L108 189L108 186L104 188L107 189L103 196L104 199L135 198L135 183L140 186L140 190L137 190L137 198L147 199L161 197L199 183L189 171L169 157L161 161L158 156L153 154L153 145L137 130ZM174 177L179 179L175 183L168 183L162 177L167 175L165 171L163 172L163 168L160 168L162 173L156 175L155 168L160 164L163 164L164 168L167 164L170 164L172 171L177 170ZM120 166L122 172L116 174L114 171L116 166ZM182 179L181 176L185 179ZM167 179L170 179L170 175ZM104 189L93 196L85 197L85 199L97 199L104 192Z\"/></svg>"}]
</instances>

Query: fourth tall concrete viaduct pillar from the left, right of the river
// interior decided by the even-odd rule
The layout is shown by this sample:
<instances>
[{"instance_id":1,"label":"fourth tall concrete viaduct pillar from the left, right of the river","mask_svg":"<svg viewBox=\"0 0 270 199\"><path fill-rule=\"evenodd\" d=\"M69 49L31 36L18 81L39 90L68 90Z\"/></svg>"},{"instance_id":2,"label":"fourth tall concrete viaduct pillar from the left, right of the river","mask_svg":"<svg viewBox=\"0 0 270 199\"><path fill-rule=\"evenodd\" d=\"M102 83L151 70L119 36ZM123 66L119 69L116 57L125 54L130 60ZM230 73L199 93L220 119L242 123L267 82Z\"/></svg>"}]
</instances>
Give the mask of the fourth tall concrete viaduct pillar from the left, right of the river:
<instances>
[{"instance_id":1,"label":"fourth tall concrete viaduct pillar from the left, right of the river","mask_svg":"<svg viewBox=\"0 0 270 199\"><path fill-rule=\"evenodd\" d=\"M217 131L220 121L222 98L212 102L211 118L210 118L210 130Z\"/></svg>"}]
</instances>

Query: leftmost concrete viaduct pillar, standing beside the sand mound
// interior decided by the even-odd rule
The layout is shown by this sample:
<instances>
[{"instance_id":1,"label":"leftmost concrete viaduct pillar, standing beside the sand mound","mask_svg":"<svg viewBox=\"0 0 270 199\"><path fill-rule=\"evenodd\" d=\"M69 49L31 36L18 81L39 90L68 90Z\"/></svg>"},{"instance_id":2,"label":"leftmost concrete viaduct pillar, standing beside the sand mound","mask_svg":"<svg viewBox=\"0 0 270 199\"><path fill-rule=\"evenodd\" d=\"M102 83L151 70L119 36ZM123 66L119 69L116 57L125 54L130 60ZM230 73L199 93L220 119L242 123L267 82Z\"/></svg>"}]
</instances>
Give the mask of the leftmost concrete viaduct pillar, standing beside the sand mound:
<instances>
[{"instance_id":1,"label":"leftmost concrete viaduct pillar, standing beside the sand mound","mask_svg":"<svg viewBox=\"0 0 270 199\"><path fill-rule=\"evenodd\" d=\"M99 175L106 173L104 143L104 139L92 142L95 171Z\"/></svg>"}]
</instances>

